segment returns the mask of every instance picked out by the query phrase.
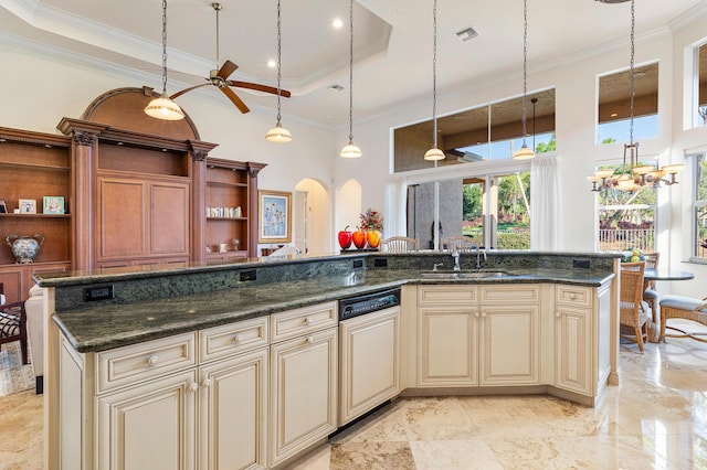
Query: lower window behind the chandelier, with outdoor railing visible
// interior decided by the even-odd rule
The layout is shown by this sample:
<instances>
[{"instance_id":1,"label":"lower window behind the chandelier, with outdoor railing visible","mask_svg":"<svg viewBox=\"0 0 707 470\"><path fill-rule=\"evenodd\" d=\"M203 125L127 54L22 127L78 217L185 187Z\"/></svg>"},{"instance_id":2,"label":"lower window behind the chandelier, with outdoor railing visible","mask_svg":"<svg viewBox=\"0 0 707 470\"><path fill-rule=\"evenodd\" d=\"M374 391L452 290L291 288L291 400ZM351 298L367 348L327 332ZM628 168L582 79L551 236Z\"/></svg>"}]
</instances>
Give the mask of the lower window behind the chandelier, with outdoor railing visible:
<instances>
[{"instance_id":1,"label":"lower window behind the chandelier, with outdoor railing visible","mask_svg":"<svg viewBox=\"0 0 707 470\"><path fill-rule=\"evenodd\" d=\"M602 190L599 193L599 250L639 248L655 252L655 211L656 192L653 189L642 188L634 193Z\"/></svg>"}]
</instances>

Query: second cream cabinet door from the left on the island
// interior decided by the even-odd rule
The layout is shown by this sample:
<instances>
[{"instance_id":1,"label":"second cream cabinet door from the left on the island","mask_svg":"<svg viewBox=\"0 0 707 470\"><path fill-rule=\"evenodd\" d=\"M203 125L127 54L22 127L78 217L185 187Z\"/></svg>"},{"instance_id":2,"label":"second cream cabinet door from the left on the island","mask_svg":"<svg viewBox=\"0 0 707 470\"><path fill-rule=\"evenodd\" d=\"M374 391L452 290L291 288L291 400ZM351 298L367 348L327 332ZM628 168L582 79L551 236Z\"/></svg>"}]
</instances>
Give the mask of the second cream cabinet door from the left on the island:
<instances>
[{"instance_id":1,"label":"second cream cabinet door from the left on the island","mask_svg":"<svg viewBox=\"0 0 707 470\"><path fill-rule=\"evenodd\" d=\"M268 349L200 367L200 469L265 469Z\"/></svg>"}]
</instances>

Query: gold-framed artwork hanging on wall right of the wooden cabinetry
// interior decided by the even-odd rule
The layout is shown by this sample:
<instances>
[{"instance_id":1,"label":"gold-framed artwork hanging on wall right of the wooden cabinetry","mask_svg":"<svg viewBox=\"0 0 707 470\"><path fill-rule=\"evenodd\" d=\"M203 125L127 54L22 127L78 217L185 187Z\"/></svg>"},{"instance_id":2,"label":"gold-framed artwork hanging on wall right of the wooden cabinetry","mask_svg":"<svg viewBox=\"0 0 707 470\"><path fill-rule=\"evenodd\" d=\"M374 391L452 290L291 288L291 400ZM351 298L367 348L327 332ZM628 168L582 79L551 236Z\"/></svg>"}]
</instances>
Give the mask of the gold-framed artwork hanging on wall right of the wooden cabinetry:
<instances>
[{"instance_id":1,"label":"gold-framed artwork hanging on wall right of the wooden cabinetry","mask_svg":"<svg viewBox=\"0 0 707 470\"><path fill-rule=\"evenodd\" d=\"M292 242L292 193L257 192L258 243Z\"/></svg>"}]
</instances>

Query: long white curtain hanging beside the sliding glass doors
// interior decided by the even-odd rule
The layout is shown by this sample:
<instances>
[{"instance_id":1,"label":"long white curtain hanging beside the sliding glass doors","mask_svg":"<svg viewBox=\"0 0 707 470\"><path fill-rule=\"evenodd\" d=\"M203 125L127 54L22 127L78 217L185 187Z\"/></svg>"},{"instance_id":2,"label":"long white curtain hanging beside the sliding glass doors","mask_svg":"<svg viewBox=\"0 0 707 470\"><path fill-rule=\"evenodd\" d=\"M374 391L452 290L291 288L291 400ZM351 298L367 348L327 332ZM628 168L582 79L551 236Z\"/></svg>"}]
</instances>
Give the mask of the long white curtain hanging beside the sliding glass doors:
<instances>
[{"instance_id":1,"label":"long white curtain hanging beside the sliding glass doors","mask_svg":"<svg viewBox=\"0 0 707 470\"><path fill-rule=\"evenodd\" d=\"M538 156L530 163L530 249L558 249L560 215L557 157Z\"/></svg>"}]
</instances>

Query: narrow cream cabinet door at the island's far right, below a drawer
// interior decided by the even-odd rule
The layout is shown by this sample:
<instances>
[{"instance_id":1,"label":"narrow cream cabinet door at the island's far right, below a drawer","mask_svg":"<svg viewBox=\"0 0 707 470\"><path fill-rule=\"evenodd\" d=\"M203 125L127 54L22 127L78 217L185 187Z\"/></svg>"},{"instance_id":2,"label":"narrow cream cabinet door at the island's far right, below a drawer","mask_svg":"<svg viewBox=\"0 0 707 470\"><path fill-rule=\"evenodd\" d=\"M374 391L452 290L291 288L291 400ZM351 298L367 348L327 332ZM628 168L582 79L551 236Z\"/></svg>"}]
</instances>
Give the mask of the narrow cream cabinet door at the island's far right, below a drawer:
<instances>
[{"instance_id":1,"label":"narrow cream cabinet door at the island's far right, below a drawer","mask_svg":"<svg viewBox=\"0 0 707 470\"><path fill-rule=\"evenodd\" d=\"M584 395L592 394L592 312L558 305L555 324L556 385Z\"/></svg>"}]
</instances>

